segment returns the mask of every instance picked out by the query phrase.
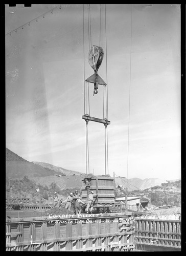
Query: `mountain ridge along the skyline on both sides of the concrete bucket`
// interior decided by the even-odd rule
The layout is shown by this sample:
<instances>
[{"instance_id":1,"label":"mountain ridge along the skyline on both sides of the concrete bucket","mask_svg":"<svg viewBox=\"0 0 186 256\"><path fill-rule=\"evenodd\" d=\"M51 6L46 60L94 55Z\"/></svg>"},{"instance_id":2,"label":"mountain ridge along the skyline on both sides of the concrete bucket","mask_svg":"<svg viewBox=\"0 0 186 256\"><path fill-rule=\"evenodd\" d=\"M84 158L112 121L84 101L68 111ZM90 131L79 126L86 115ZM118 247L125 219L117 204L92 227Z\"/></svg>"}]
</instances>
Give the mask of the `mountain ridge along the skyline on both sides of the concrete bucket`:
<instances>
[{"instance_id":1,"label":"mountain ridge along the skyline on both sides of the concrete bucket","mask_svg":"<svg viewBox=\"0 0 186 256\"><path fill-rule=\"evenodd\" d=\"M65 176L56 177L56 174L64 174ZM68 170L44 162L29 162L6 148L6 177L15 179L24 176L28 176L36 183L40 182L41 184L49 185L52 182L56 182L61 188L65 189L65 187L76 187L77 183L80 185L80 181L85 177L85 173ZM65 178L66 176L68 178ZM143 190L166 182L166 180L158 178L146 178L143 180L140 178L131 178L127 181L124 177L115 177L115 186L127 186L128 191Z\"/></svg>"}]
</instances>

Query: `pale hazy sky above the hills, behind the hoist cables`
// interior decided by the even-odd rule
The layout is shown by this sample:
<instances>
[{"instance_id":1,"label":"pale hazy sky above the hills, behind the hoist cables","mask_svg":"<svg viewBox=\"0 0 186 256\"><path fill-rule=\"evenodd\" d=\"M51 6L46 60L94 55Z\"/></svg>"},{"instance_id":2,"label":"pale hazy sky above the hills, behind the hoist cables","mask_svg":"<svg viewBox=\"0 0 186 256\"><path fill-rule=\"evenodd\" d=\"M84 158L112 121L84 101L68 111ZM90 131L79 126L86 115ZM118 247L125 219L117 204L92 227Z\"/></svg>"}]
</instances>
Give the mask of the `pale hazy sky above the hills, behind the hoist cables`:
<instances>
[{"instance_id":1,"label":"pale hazy sky above the hills, behind the hoist cables","mask_svg":"<svg viewBox=\"0 0 186 256\"><path fill-rule=\"evenodd\" d=\"M99 46L100 5L90 5L90 21L91 45ZM81 4L5 5L5 32L6 147L28 161L85 173L84 74L94 74L87 5L84 47ZM180 6L108 4L105 29L103 5L102 32L108 173L179 179ZM93 91L91 83L90 116L103 118L103 86ZM90 173L104 175L103 124L88 123L88 141Z\"/></svg>"}]
</instances>

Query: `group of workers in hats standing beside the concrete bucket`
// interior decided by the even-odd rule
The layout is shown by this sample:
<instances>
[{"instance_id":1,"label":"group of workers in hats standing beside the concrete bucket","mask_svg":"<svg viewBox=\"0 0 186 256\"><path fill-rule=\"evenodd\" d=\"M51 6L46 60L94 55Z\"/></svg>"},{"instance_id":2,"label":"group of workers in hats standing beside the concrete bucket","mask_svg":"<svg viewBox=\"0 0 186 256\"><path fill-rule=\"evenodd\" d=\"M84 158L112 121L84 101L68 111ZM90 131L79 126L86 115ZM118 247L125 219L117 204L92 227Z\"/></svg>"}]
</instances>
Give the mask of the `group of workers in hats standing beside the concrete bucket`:
<instances>
[{"instance_id":1,"label":"group of workers in hats standing beside the concrete bucket","mask_svg":"<svg viewBox=\"0 0 186 256\"><path fill-rule=\"evenodd\" d=\"M94 196L97 196L98 194L94 194L94 191L90 191L88 195L87 204L85 204L82 201L82 198L78 194L78 190L76 190L74 193L70 193L66 200L63 201L62 195L61 199L58 198L57 193L54 193L54 208L55 207L62 207L62 202L65 204L66 214L68 214L69 211L74 211L75 214L81 214L83 206L86 205L85 211L88 214L88 210L90 208L90 212L92 212L93 204L94 204Z\"/></svg>"}]
</instances>

